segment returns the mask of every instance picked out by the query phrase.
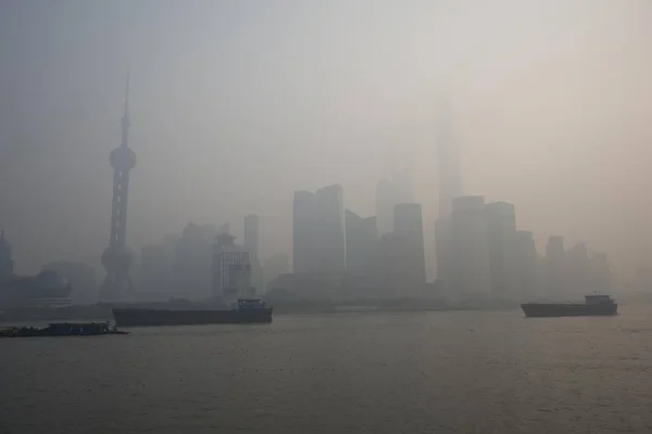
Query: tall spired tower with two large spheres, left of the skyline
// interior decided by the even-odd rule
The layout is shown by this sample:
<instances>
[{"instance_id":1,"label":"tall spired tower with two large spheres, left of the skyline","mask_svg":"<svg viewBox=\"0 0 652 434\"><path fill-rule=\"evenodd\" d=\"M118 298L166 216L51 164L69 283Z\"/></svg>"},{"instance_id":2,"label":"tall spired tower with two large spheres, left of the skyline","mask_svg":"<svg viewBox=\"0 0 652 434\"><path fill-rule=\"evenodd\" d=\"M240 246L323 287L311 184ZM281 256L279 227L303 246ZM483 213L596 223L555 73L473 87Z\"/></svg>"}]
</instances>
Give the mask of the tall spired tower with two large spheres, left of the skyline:
<instances>
[{"instance_id":1,"label":"tall spired tower with two large spheres, left of the skyline","mask_svg":"<svg viewBox=\"0 0 652 434\"><path fill-rule=\"evenodd\" d=\"M129 192L129 170L136 166L136 153L129 149L129 75L125 89L125 107L122 126L122 142L111 151L110 162L113 167L113 200L111 202L111 239L109 247L102 254L102 265L106 270L106 279L100 289L100 302L115 303L126 301L131 295L133 284L129 267L133 260L131 251L126 244L127 234L127 196Z\"/></svg>"}]
</instances>

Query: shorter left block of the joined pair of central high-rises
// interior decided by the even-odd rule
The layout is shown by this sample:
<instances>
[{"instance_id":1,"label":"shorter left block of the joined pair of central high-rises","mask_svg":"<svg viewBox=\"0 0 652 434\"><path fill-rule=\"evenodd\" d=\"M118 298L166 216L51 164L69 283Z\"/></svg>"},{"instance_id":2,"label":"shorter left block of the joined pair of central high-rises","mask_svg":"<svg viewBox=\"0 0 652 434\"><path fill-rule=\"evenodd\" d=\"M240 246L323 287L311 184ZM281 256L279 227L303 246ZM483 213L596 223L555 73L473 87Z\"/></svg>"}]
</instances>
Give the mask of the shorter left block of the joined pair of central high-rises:
<instances>
[{"instance_id":1,"label":"shorter left block of the joined pair of central high-rises","mask_svg":"<svg viewBox=\"0 0 652 434\"><path fill-rule=\"evenodd\" d=\"M292 269L294 273L315 270L316 197L310 191L296 191L292 202Z\"/></svg>"}]
</instances>

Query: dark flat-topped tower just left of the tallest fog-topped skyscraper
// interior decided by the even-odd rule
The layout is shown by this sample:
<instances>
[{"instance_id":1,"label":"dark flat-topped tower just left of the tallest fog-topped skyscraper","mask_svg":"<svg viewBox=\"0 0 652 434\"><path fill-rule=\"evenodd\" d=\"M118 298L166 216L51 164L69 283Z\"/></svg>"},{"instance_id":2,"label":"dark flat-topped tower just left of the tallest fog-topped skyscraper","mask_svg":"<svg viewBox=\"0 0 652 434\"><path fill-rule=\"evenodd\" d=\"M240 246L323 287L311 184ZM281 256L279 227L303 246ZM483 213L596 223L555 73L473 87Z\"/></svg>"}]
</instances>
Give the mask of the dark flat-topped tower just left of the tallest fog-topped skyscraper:
<instances>
[{"instance_id":1,"label":"dark flat-topped tower just left of the tallest fog-topped skyscraper","mask_svg":"<svg viewBox=\"0 0 652 434\"><path fill-rule=\"evenodd\" d=\"M405 288L406 292L421 291L426 284L424 227L421 204L404 203L394 206L393 233L397 248L399 250L397 268L401 285Z\"/></svg>"}]
</instances>

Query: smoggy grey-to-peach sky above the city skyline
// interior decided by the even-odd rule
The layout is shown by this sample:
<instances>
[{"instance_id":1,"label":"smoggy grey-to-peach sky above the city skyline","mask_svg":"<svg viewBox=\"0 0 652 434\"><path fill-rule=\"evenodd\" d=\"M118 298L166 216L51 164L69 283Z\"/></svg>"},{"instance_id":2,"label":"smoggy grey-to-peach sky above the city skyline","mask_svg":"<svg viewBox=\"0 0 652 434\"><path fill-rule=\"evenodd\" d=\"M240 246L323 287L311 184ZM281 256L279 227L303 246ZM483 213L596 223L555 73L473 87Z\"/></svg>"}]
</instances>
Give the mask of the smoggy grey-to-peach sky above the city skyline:
<instances>
[{"instance_id":1,"label":"smoggy grey-to-peach sky above the city skyline","mask_svg":"<svg viewBox=\"0 0 652 434\"><path fill-rule=\"evenodd\" d=\"M254 213L262 256L290 253L293 190L372 215L411 162L431 257L446 90L466 193L540 246L649 260L651 42L648 0L3 0L0 227L18 271L99 264L130 66L136 250Z\"/></svg>"}]
</instances>

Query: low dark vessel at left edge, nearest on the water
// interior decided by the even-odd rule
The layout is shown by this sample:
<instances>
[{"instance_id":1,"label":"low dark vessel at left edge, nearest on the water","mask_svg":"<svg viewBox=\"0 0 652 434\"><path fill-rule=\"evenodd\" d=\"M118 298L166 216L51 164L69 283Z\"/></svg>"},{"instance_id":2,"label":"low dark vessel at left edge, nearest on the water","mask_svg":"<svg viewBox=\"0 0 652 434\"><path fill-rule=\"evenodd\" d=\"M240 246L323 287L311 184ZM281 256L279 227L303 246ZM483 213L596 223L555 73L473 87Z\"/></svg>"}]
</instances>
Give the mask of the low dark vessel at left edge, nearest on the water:
<instances>
[{"instance_id":1,"label":"low dark vessel at left edge, nearest on the water","mask_svg":"<svg viewBox=\"0 0 652 434\"><path fill-rule=\"evenodd\" d=\"M57 322L48 327L9 327L0 329L0 337L98 336L128 334L109 322Z\"/></svg>"}]
</instances>

